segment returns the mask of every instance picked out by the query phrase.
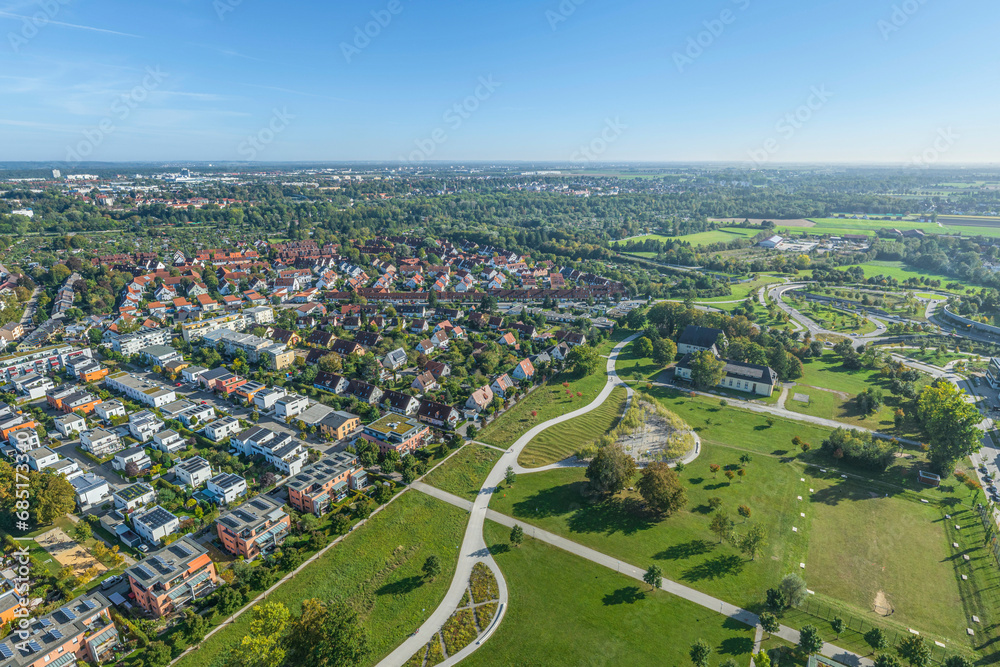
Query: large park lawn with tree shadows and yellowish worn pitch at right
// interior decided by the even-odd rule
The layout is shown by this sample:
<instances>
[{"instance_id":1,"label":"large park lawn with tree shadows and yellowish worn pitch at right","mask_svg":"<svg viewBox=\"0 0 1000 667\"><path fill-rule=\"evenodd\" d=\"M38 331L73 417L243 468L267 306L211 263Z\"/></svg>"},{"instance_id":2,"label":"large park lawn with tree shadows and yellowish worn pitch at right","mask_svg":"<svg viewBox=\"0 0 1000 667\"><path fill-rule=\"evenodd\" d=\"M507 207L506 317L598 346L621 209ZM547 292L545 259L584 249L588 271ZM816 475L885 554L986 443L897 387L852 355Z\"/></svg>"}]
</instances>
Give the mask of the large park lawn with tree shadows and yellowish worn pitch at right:
<instances>
[{"instance_id":1,"label":"large park lawn with tree shadows and yellowish worn pitch at right","mask_svg":"<svg viewBox=\"0 0 1000 667\"><path fill-rule=\"evenodd\" d=\"M827 429L783 419L768 425L765 415L722 408L715 401L667 390L651 393L702 438L701 456L681 475L688 493L682 511L653 520L635 511L635 495L628 491L595 499L586 493L584 471L578 468L521 476L513 488L494 497L492 508L637 567L656 562L666 577L738 605L759 604L765 589L788 572L805 577L823 609L839 608L858 617L873 616L866 600L883 590L910 609L906 616L897 612L896 619L905 619L926 636L947 639L949 645L968 646L963 629L968 612L963 608L970 608L971 593L963 594L956 584L954 563L960 555L951 551L954 538L940 520L941 512L949 511L943 504L973 502L965 487L919 485L916 472L926 467L924 456L910 450L883 474L845 468L845 478L836 460L817 451ZM801 453L791 442L795 435L813 449ZM739 476L730 482L721 472L711 472L712 463L723 470L739 467L742 453L753 457L742 482ZM735 516L736 507L750 507L749 521L760 523L768 535L756 561L719 544L709 529L710 497L723 500L737 532L745 524ZM962 544L963 549L977 549L974 558L985 557L982 545L981 539ZM863 586L848 595L862 577ZM921 587L926 578L935 583ZM992 613L993 604L984 601L976 608ZM879 623L898 630L902 626L896 619ZM816 624L817 617L796 611L784 622L801 627Z\"/></svg>"}]
</instances>

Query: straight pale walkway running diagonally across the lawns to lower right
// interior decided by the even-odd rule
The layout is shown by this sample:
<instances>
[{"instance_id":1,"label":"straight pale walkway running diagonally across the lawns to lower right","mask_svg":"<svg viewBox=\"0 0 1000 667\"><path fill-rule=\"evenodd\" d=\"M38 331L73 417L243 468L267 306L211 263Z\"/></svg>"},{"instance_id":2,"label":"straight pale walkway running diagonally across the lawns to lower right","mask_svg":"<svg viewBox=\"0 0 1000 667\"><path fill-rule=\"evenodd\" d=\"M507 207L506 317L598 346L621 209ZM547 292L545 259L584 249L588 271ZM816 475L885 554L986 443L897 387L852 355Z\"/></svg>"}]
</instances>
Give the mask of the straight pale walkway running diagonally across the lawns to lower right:
<instances>
[{"instance_id":1,"label":"straight pale walkway running diagonally across the lawns to lower right","mask_svg":"<svg viewBox=\"0 0 1000 667\"><path fill-rule=\"evenodd\" d=\"M443 500L447 503L451 503L456 507L467 509L472 505L469 501L463 498L459 498L458 496L454 496L445 491L441 491L440 489L429 487L426 484L421 484L420 486L414 486L414 488L418 491L423 491L425 493L428 493L429 495L432 495L435 498ZM615 570L620 574L632 577L633 579L636 579L638 581L642 581L642 577L646 573L645 570L635 567L631 563L626 563L625 561L618 560L617 558L613 558L612 556L603 554L600 551L591 549L590 547L585 547L582 544L573 542L572 540L567 540L565 537L560 537L555 533L550 533L547 530L542 530L541 528L537 528L535 526L532 526L531 524L524 523L523 521L518 521L512 517L507 516L506 514L500 514L499 512L495 512L493 510L486 510L485 518L489 519L490 521L495 521L496 523L499 523L500 525L503 526L507 526L509 528L513 528L515 525L519 525L521 526L521 528L524 529L524 534L528 537L533 537L541 542L545 542L546 544L551 544L552 546L558 547L563 551L568 551L569 553L575 556L585 558L591 561L592 563L597 563L598 565L603 565L604 567ZM759 642L760 640L759 639L760 628L758 626L759 618L753 612L747 611L746 609L742 609L735 605L731 605L728 602L724 602L723 600L714 598L711 595L706 595L701 591L696 591L693 588L689 588L687 586L684 586L683 584L679 584L676 581L671 581L670 579L664 579L663 584L662 586L660 586L660 588L666 591L667 593L676 595L677 597L683 598L689 602L693 602L699 606L705 607L706 609L717 611L718 613L723 614L728 618L744 623L752 628L757 628L758 633L756 634L755 642ZM798 630L794 630L792 628L781 626L778 632L774 634L775 636L780 637L785 641L791 642L793 644L798 644L799 642L799 632ZM822 654L828 658L833 658L845 665L868 666L873 664L871 660L862 658L859 655L856 655L846 649L840 648L839 646L835 646L833 644L823 644Z\"/></svg>"}]
</instances>

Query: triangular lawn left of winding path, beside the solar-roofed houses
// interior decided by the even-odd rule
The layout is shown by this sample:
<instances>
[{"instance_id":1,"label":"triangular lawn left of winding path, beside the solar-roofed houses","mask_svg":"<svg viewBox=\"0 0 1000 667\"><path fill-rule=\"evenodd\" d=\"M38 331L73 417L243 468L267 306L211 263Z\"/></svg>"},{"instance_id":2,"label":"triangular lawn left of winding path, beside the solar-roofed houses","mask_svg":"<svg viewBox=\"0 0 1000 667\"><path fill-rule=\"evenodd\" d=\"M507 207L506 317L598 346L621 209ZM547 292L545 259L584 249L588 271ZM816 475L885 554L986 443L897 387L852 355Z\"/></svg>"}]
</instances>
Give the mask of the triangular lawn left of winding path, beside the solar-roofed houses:
<instances>
[{"instance_id":1,"label":"triangular lawn left of winding path, beside the solar-roofed houses","mask_svg":"<svg viewBox=\"0 0 1000 667\"><path fill-rule=\"evenodd\" d=\"M303 599L344 600L361 615L377 663L431 614L455 571L468 515L422 493L404 493L268 597L298 612ZM421 567L431 554L442 571L433 582ZM209 638L181 667L220 667L250 627L251 613Z\"/></svg>"}]
</instances>

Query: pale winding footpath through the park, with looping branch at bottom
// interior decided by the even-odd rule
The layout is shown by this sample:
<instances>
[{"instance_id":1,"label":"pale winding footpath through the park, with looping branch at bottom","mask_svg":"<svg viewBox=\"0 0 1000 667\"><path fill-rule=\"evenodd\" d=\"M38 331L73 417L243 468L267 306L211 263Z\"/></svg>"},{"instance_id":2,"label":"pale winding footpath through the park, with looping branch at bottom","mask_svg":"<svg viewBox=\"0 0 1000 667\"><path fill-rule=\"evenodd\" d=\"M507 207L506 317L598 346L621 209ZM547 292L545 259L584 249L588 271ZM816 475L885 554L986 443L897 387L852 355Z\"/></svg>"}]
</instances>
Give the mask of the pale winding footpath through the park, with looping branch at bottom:
<instances>
[{"instance_id":1,"label":"pale winding footpath through the park, with looping branch at bottom","mask_svg":"<svg viewBox=\"0 0 1000 667\"><path fill-rule=\"evenodd\" d=\"M462 540L462 548L459 551L458 565L455 567L455 575L451 581L451 587L448 588L448 592L445 594L441 604L438 605L438 608L434 610L434 613L432 613L430 617L424 621L423 625L421 625L415 633L407 638L405 642L400 644L395 651L390 653L380 663L378 663L379 667L400 667L405 664L406 661L409 660L421 646L426 645L431 640L431 638L445 624L445 621L451 617L455 609L458 608L458 603L462 601L462 595L465 593L465 589L469 583L469 577L472 575L472 568L476 563L484 563L493 571L493 574L496 575L497 585L500 591L500 604L497 608L496 618L493 620L490 627L496 628L497 625L499 625L504 613L507 610L508 593L507 582L503 578L503 574L500 572L500 568L497 566L496 561L493 560L493 555L487 548L486 540L483 537L483 525L486 522L486 512L489 508L490 497L496 491L500 482L503 481L507 466L512 466L515 470L520 468L517 463L517 457L521 453L521 450L524 449L524 447L531 442L536 435L550 426L561 424L562 422L585 415L591 410L596 410L604 403L604 401L608 399L608 396L611 395L611 390L619 384L622 384L621 380L618 379L618 374L615 372L615 360L618 358L618 354L626 345L641 335L641 332L632 334L622 342L615 345L615 347L611 350L611 354L608 355L607 363L608 381L604 385L601 392L597 395L596 399L579 410L574 410L573 412L554 417L546 422L542 422L541 424L532 427L531 430L518 438L517 442L515 442L514 445L500 457L496 465L493 466L493 469L490 471L490 474L487 475L486 481L483 483L483 487L479 490L479 495L476 496L475 501L472 503L469 525L465 529L465 537ZM427 488L430 487L425 486L419 490L426 492ZM479 648L483 641L484 639L480 638L479 641L466 646L454 656L451 656L444 662L440 663L440 665L444 667L447 665L457 664L462 658Z\"/></svg>"}]
</instances>

